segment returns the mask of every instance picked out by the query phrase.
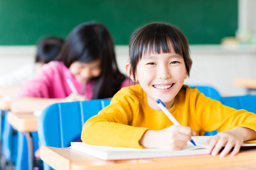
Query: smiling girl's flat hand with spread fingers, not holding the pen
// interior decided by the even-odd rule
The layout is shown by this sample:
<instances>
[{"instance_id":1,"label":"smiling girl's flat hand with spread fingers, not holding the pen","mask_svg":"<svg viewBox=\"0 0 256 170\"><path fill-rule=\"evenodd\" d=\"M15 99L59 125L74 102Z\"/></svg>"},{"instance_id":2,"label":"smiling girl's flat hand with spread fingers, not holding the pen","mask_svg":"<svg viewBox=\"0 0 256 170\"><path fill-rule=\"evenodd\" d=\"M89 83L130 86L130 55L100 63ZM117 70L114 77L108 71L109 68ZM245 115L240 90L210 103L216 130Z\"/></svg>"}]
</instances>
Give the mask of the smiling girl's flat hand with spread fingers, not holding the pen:
<instances>
[{"instance_id":1,"label":"smiling girl's flat hand with spread fingers, not holding the pen","mask_svg":"<svg viewBox=\"0 0 256 170\"><path fill-rule=\"evenodd\" d=\"M217 135L212 136L208 139L205 145L208 145L208 152L212 155L217 155L220 152L220 149L225 145L225 148L220 153L220 157L225 157L229 151L233 149L230 153L230 156L235 156L243 143L243 139L239 133L234 133L233 131L219 132Z\"/></svg>"}]
</instances>

